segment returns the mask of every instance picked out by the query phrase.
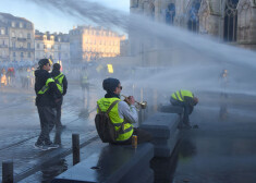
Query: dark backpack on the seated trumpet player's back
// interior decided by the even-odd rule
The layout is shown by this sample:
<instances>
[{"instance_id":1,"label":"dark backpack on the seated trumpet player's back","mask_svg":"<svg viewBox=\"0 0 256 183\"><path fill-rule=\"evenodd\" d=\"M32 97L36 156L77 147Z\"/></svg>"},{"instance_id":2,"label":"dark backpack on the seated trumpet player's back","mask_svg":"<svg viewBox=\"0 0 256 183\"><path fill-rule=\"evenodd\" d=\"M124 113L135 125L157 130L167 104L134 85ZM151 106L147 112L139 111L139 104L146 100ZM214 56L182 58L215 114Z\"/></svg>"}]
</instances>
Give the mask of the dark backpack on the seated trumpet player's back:
<instances>
[{"instance_id":1,"label":"dark backpack on the seated trumpet player's back","mask_svg":"<svg viewBox=\"0 0 256 183\"><path fill-rule=\"evenodd\" d=\"M119 100L113 101L106 112L102 112L98 106L98 113L95 117L95 125L98 135L102 143L114 143L119 136L119 132L115 131L113 123L109 118L110 110L117 105Z\"/></svg>"}]
</instances>

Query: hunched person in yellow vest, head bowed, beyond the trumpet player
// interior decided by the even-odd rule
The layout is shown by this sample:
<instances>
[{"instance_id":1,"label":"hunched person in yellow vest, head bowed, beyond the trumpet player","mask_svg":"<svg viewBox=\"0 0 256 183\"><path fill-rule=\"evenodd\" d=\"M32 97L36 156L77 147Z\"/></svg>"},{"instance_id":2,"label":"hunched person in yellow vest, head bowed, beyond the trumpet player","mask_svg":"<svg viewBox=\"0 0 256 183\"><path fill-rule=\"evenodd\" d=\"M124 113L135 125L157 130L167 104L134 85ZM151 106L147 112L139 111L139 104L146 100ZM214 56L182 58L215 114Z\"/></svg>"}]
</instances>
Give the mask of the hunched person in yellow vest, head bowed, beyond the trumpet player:
<instances>
[{"instance_id":1,"label":"hunched person in yellow vest, head bowed, beyond the trumpet player","mask_svg":"<svg viewBox=\"0 0 256 183\"><path fill-rule=\"evenodd\" d=\"M198 98L190 90L178 90L171 95L172 106L180 106L184 109L183 124L184 129L191 129L188 115L193 112L194 106L198 103Z\"/></svg>"}]
</instances>

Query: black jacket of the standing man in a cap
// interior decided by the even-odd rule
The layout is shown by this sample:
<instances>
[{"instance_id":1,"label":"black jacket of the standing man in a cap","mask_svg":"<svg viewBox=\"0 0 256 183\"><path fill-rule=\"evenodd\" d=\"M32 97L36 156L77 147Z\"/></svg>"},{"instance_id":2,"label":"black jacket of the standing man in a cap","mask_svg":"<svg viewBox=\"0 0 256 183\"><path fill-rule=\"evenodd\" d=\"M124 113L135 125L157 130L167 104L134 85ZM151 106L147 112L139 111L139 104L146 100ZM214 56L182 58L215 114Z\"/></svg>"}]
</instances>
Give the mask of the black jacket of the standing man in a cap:
<instances>
[{"instance_id":1,"label":"black jacket of the standing man in a cap","mask_svg":"<svg viewBox=\"0 0 256 183\"><path fill-rule=\"evenodd\" d=\"M56 107L56 101L61 99L62 95L54 82L49 83L49 89L44 95L37 94L46 85L47 80L51 78L50 73L48 73L46 70L36 70L35 76L36 106Z\"/></svg>"}]
</instances>

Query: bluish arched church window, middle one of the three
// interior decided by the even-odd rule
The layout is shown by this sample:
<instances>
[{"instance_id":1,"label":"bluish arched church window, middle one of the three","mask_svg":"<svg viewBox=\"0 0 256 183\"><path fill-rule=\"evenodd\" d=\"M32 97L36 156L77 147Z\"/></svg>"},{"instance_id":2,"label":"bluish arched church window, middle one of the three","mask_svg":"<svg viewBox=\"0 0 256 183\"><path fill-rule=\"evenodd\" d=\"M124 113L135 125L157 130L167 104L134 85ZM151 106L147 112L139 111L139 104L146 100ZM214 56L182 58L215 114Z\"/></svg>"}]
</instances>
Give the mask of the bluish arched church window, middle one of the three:
<instances>
[{"instance_id":1,"label":"bluish arched church window, middle one of the three","mask_svg":"<svg viewBox=\"0 0 256 183\"><path fill-rule=\"evenodd\" d=\"M194 0L192 2L191 9L188 11L188 22L187 27L192 32L198 33L199 29L199 9L200 9L202 0Z\"/></svg>"}]
</instances>

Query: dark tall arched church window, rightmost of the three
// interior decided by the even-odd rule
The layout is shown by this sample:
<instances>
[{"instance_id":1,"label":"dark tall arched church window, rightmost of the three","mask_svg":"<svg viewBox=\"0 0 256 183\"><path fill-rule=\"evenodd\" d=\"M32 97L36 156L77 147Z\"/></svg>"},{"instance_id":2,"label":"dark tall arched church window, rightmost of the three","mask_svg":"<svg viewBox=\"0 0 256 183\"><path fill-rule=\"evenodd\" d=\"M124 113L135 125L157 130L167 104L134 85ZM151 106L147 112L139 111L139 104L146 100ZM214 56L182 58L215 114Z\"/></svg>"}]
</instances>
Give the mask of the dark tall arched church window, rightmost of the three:
<instances>
[{"instance_id":1,"label":"dark tall arched church window, rightmost of the three","mask_svg":"<svg viewBox=\"0 0 256 183\"><path fill-rule=\"evenodd\" d=\"M227 0L224 9L224 41L236 41L239 0Z\"/></svg>"}]
</instances>

